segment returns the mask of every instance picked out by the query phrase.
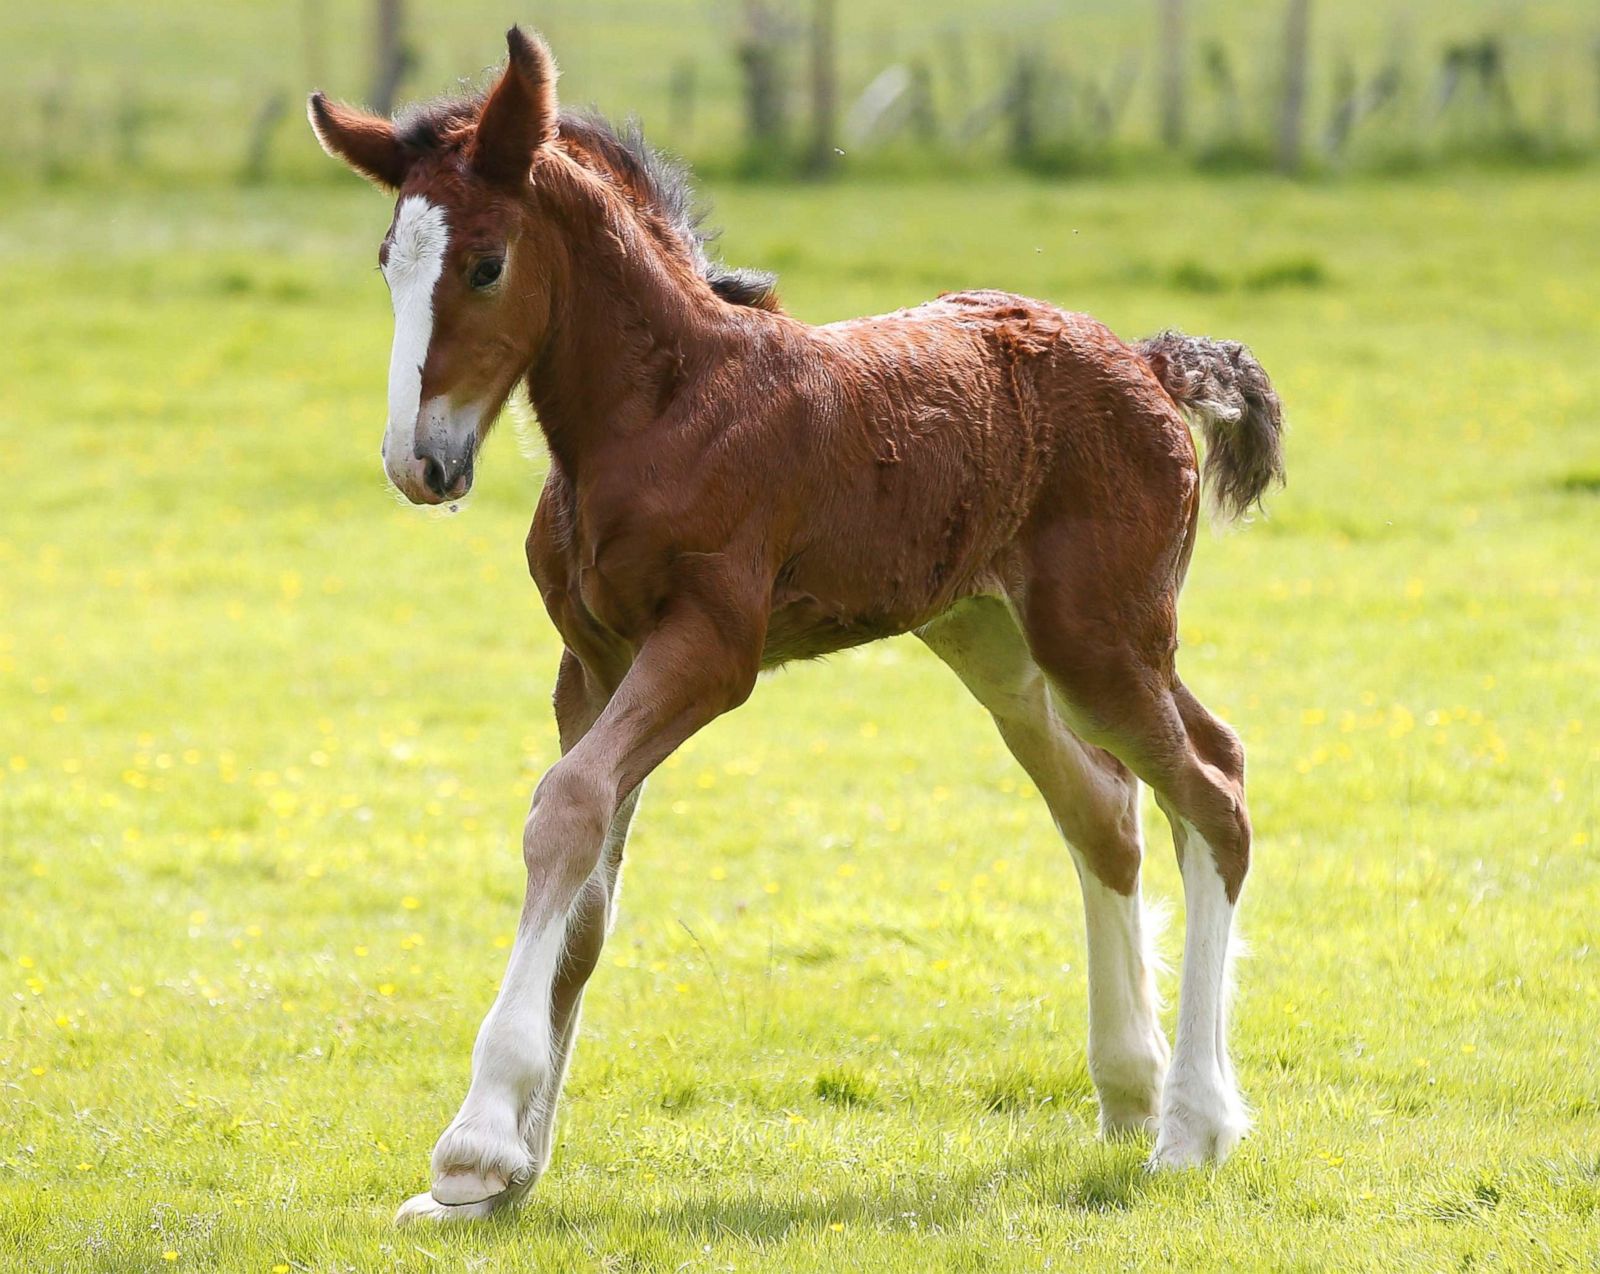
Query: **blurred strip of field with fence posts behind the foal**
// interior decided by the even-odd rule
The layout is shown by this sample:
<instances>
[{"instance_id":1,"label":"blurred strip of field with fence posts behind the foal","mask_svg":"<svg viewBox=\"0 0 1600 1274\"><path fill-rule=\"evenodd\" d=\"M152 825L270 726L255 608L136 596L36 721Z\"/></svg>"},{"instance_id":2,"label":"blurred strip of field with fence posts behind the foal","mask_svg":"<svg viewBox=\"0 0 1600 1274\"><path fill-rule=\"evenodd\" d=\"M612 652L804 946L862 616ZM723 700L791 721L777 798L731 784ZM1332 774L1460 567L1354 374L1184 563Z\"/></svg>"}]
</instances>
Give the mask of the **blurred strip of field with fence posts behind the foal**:
<instances>
[{"instance_id":1,"label":"blurred strip of field with fence posts behind the foal","mask_svg":"<svg viewBox=\"0 0 1600 1274\"><path fill-rule=\"evenodd\" d=\"M6 5L6 179L331 179L307 85L390 110L477 83L504 3ZM1584 0L552 0L570 102L718 173L1406 173L1600 142ZM842 154L840 154L842 152Z\"/></svg>"}]
</instances>

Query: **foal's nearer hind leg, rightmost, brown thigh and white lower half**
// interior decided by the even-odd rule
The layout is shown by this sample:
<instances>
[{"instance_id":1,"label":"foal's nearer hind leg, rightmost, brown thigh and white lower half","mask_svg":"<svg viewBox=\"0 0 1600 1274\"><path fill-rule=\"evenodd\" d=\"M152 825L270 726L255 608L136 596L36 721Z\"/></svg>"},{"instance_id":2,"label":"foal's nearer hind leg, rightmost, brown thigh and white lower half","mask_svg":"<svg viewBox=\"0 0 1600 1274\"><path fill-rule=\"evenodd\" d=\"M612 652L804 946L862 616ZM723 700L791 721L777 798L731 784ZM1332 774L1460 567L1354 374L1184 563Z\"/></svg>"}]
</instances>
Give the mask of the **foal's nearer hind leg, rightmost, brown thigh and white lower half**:
<instances>
[{"instance_id":1,"label":"foal's nearer hind leg, rightmost, brown thigh and white lower half","mask_svg":"<svg viewBox=\"0 0 1600 1274\"><path fill-rule=\"evenodd\" d=\"M1173 669L1176 581L1130 605L1128 576L1102 578L1117 595L1037 578L1019 610L1072 728L1149 783L1173 824L1187 925L1150 1165L1189 1167L1226 1159L1250 1122L1227 1056L1229 944L1250 867L1245 754Z\"/></svg>"}]
</instances>

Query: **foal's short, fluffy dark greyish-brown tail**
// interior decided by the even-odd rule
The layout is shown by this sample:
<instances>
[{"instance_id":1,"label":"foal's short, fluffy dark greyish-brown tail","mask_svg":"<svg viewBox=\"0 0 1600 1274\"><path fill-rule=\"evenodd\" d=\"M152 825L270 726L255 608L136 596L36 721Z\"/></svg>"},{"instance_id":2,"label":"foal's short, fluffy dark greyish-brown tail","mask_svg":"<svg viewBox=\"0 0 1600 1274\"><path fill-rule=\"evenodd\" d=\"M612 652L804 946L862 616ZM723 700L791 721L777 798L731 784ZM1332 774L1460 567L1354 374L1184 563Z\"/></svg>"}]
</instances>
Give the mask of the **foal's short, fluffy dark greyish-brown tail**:
<instances>
[{"instance_id":1,"label":"foal's short, fluffy dark greyish-brown tail","mask_svg":"<svg viewBox=\"0 0 1600 1274\"><path fill-rule=\"evenodd\" d=\"M1162 331L1134 344L1155 379L1205 434L1211 509L1237 522L1283 483L1283 405L1256 355L1238 341Z\"/></svg>"}]
</instances>

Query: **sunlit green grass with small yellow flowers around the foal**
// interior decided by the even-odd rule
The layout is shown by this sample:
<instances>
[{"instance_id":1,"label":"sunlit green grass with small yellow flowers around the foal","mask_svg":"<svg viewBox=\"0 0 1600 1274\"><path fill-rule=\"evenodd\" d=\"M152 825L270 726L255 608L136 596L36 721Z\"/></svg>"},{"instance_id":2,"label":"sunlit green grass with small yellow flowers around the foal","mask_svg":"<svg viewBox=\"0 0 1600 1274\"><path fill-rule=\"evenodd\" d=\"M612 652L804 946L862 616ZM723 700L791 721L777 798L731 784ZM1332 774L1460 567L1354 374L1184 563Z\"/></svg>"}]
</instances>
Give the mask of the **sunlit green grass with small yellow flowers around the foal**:
<instances>
[{"instance_id":1,"label":"sunlit green grass with small yellow flowers around the foal","mask_svg":"<svg viewBox=\"0 0 1600 1274\"><path fill-rule=\"evenodd\" d=\"M726 192L730 259L810 318L987 283L1272 370L1291 485L1203 538L1181 653L1251 754L1256 1133L1158 1180L1094 1141L1066 853L899 640L768 677L651 779L554 1168L448 1232L389 1218L555 755L539 463L498 435L448 520L384 493L389 211L355 182L11 206L0 1266L1600 1261L1597 202Z\"/></svg>"}]
</instances>

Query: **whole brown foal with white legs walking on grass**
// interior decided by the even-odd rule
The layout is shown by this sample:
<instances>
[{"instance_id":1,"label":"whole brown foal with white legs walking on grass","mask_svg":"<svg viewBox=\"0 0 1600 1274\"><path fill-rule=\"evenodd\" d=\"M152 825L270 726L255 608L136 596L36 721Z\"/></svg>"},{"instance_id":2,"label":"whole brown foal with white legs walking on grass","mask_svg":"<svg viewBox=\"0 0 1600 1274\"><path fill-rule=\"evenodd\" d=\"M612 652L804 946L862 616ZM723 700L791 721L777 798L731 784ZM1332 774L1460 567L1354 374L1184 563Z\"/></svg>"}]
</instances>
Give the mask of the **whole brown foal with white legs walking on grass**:
<instances>
[{"instance_id":1,"label":"whole brown foal with white legs walking on grass","mask_svg":"<svg viewBox=\"0 0 1600 1274\"><path fill-rule=\"evenodd\" d=\"M509 43L486 94L400 123L310 99L323 147L398 194L394 485L466 495L518 383L550 453L528 565L565 642L563 757L533 794L470 1088L400 1220L486 1216L544 1172L645 776L763 667L899 632L989 709L1072 851L1102 1133L1154 1130L1157 1168L1222 1159L1246 1127L1226 964L1250 818L1238 739L1174 671L1200 511L1182 413L1237 517L1283 475L1266 373L1238 344L1126 346L994 291L800 323L771 278L707 259L686 187L635 136L558 112L542 42ZM1187 907L1171 1055L1141 781Z\"/></svg>"}]
</instances>

